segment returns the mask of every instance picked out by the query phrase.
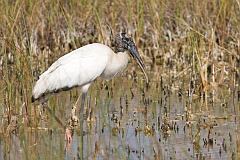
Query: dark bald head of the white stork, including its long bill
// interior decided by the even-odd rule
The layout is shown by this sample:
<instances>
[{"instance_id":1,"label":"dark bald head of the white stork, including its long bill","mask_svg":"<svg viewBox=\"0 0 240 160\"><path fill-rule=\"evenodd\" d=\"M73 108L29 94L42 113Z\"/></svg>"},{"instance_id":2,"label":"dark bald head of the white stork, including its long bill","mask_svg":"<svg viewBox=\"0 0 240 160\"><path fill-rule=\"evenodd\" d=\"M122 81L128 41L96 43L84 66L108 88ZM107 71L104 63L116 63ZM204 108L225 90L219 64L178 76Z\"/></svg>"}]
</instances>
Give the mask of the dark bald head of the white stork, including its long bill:
<instances>
[{"instance_id":1,"label":"dark bald head of the white stork, including its long bill","mask_svg":"<svg viewBox=\"0 0 240 160\"><path fill-rule=\"evenodd\" d=\"M143 63L142 58L139 55L139 52L137 50L135 43L133 42L133 39L131 37L128 37L126 33L122 32L116 35L114 45L117 52L124 52L126 50L129 51L133 59L136 60L136 62L142 69L146 78L146 82L148 83L148 76L145 71L145 65Z\"/></svg>"}]
</instances>

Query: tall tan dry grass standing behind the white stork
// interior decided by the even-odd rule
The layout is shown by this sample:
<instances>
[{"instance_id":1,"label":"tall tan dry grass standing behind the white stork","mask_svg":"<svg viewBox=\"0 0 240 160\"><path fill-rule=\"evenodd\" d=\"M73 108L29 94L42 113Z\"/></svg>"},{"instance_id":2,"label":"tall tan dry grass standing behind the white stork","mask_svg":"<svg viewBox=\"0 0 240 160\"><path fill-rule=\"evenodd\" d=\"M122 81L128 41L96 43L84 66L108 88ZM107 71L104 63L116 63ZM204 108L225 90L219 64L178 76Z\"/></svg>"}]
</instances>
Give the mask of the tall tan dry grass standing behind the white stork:
<instances>
[{"instance_id":1,"label":"tall tan dry grass standing behind the white stork","mask_svg":"<svg viewBox=\"0 0 240 160\"><path fill-rule=\"evenodd\" d=\"M134 37L152 82L206 101L228 94L219 88L239 92L239 0L1 0L0 116L7 121L0 132L14 115L36 114L31 90L54 60L91 42L109 44L107 25Z\"/></svg>"}]
</instances>

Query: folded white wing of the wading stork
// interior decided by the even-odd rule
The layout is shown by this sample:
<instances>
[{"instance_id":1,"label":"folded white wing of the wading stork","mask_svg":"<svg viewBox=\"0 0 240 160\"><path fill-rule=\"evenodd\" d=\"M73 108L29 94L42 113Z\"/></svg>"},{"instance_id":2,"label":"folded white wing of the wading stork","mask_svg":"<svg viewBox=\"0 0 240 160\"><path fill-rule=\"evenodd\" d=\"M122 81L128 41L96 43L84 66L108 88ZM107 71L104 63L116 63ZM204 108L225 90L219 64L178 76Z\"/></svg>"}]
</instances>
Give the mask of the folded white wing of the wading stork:
<instances>
[{"instance_id":1,"label":"folded white wing of the wading stork","mask_svg":"<svg viewBox=\"0 0 240 160\"><path fill-rule=\"evenodd\" d=\"M104 45L87 45L54 62L37 81L35 99L40 96L91 83L104 71L112 50Z\"/></svg>"}]
</instances>

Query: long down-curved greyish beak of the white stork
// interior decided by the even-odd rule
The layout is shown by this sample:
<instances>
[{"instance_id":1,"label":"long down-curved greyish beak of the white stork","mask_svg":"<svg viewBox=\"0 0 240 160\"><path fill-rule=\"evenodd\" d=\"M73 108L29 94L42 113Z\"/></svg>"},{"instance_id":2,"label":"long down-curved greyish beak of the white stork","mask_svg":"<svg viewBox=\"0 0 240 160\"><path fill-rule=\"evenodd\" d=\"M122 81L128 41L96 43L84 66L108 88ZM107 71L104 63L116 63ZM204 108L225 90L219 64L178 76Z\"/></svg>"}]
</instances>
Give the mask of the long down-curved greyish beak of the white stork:
<instances>
[{"instance_id":1,"label":"long down-curved greyish beak of the white stork","mask_svg":"<svg viewBox=\"0 0 240 160\"><path fill-rule=\"evenodd\" d=\"M145 65L143 64L143 60L139 55L137 47L135 46L135 44L131 44L131 45L128 46L128 50L131 53L132 57L137 61L138 65L140 66L141 70L144 73L146 82L148 83L148 76L147 76L147 73L145 71L146 70Z\"/></svg>"}]
</instances>

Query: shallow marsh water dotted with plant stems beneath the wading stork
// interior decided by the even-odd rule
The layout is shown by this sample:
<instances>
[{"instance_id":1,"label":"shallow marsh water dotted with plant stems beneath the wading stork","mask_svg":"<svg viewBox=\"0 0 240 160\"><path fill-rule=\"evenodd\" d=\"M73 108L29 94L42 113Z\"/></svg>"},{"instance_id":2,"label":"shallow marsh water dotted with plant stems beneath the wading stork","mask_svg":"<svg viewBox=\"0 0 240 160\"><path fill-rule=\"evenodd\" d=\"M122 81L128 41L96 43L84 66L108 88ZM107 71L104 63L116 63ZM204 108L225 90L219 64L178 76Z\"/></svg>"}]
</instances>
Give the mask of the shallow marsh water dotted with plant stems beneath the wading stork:
<instances>
[{"instance_id":1,"label":"shallow marsh water dotted with plant stems beneath the wading stork","mask_svg":"<svg viewBox=\"0 0 240 160\"><path fill-rule=\"evenodd\" d=\"M84 134L76 126L70 144L62 124L80 92L57 94L45 104L52 112L34 105L39 118L28 116L32 127L24 115L12 116L18 127L0 140L0 159L240 158L239 93L218 90L216 97L226 96L206 99L180 88L162 79L146 86L126 75L98 80L88 93Z\"/></svg>"}]
</instances>

